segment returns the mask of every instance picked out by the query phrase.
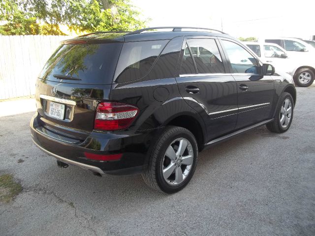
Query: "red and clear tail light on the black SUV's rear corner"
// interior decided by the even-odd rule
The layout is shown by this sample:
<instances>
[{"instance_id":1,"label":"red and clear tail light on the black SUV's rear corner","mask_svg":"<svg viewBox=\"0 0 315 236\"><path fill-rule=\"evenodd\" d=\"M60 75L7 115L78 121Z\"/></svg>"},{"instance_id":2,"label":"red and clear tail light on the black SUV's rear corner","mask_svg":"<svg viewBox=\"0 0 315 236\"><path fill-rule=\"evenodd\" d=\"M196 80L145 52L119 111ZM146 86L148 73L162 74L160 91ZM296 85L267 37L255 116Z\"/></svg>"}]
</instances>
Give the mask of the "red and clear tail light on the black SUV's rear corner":
<instances>
[{"instance_id":1,"label":"red and clear tail light on the black SUV's rear corner","mask_svg":"<svg viewBox=\"0 0 315 236\"><path fill-rule=\"evenodd\" d=\"M119 102L100 102L96 108L94 129L123 130L128 128L138 115L135 106Z\"/></svg>"}]
</instances>

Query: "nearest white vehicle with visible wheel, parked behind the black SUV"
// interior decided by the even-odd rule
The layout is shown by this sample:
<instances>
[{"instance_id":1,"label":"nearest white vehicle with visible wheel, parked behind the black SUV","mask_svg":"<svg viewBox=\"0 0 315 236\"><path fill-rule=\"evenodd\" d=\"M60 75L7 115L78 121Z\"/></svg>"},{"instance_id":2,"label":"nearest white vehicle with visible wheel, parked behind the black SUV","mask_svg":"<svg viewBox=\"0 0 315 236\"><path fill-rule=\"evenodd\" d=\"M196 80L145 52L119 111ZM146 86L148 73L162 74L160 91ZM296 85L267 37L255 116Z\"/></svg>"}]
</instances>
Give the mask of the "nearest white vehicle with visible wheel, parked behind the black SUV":
<instances>
[{"instance_id":1,"label":"nearest white vehicle with visible wheel, parked behind the black SUV","mask_svg":"<svg viewBox=\"0 0 315 236\"><path fill-rule=\"evenodd\" d=\"M295 57L288 55L284 48L275 43L243 42L264 63L272 64L276 71L292 75L294 83L300 87L308 87L315 79L315 62L311 57Z\"/></svg>"}]
</instances>

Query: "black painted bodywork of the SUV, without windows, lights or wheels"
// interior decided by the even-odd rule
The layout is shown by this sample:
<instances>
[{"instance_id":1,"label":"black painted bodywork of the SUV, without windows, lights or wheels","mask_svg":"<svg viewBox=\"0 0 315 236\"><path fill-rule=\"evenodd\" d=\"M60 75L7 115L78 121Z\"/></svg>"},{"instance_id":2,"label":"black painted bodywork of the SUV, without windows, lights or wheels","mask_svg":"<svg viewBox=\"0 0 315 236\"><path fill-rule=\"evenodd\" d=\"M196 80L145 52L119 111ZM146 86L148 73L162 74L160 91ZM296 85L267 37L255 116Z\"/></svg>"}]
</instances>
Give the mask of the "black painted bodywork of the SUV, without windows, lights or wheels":
<instances>
[{"instance_id":1,"label":"black painted bodywork of the SUV, without windows, lights or wheels","mask_svg":"<svg viewBox=\"0 0 315 236\"><path fill-rule=\"evenodd\" d=\"M180 76L179 68L186 38L215 38L224 62L225 73ZM279 96L288 88L288 91L294 93L292 97L295 101L295 88L292 82L279 74L264 76L259 80L252 81L251 75L231 73L228 58L226 58L219 41L222 38L237 42L226 34L204 32L163 32L126 36L119 34L117 41L132 42L157 39L176 41L173 50L174 52L178 50L179 55L176 67L168 73L172 76L147 80L146 76L150 76L149 71L148 75L139 80L126 83L113 81L112 84L104 85L76 84L75 81L61 84L56 81L37 79L35 96L37 112L31 121L33 141L58 156L98 167L105 173L132 173L142 170L163 127L178 117L189 117L199 124L202 132L199 146L200 149L203 149L206 143L216 137L273 118ZM74 40L103 43L109 39L102 38L102 34L91 34ZM254 56L254 58L256 57ZM239 89L239 85L244 83L248 85L248 91ZM40 98L40 95L51 96L54 86L58 87L56 97L76 101L75 112L73 112L76 122L71 123L71 119L63 121L51 118L43 109L44 100ZM186 91L188 86L198 87L200 92L189 94ZM93 130L95 104L99 101L118 101L135 105L139 108L140 113L126 130L95 131ZM239 106L264 103L264 101L270 102L270 105L248 110L243 114L235 110L224 115L216 113L221 110L237 109ZM66 125L65 122L67 122ZM45 131L59 135L60 139L57 140L43 134ZM64 142L65 138L72 138L76 142L74 144L66 143ZM123 156L119 161L100 162L86 159L84 152L123 153Z\"/></svg>"}]
</instances>

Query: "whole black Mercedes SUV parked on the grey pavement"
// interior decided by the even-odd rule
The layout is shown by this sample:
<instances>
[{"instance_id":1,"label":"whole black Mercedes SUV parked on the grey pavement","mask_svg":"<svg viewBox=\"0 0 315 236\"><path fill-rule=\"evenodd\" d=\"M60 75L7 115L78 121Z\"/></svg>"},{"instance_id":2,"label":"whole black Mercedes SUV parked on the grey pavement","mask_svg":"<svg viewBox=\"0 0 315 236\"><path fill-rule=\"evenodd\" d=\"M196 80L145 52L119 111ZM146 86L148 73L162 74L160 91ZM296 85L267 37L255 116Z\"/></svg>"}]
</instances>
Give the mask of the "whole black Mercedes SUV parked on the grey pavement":
<instances>
[{"instance_id":1,"label":"whole black Mercedes SUV parked on the grey pavement","mask_svg":"<svg viewBox=\"0 0 315 236\"><path fill-rule=\"evenodd\" d=\"M203 31L148 28L63 41L36 82L33 141L60 167L141 172L149 186L174 193L191 179L198 151L265 124L287 131L292 78L228 34Z\"/></svg>"}]
</instances>

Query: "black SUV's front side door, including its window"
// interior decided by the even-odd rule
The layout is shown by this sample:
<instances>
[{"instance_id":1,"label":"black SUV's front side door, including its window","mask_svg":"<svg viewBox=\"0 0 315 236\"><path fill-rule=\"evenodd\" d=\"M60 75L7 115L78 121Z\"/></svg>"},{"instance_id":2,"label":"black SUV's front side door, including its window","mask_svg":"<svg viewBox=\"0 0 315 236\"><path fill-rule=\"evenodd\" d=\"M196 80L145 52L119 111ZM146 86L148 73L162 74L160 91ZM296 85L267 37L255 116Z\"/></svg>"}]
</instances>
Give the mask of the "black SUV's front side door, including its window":
<instances>
[{"instance_id":1,"label":"black SUV's front side door, including its window","mask_svg":"<svg viewBox=\"0 0 315 236\"><path fill-rule=\"evenodd\" d=\"M274 81L261 75L262 65L242 44L232 39L221 39L238 92L238 119L241 129L272 117Z\"/></svg>"}]
</instances>

